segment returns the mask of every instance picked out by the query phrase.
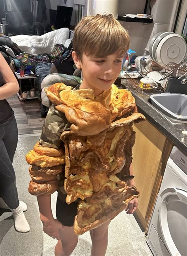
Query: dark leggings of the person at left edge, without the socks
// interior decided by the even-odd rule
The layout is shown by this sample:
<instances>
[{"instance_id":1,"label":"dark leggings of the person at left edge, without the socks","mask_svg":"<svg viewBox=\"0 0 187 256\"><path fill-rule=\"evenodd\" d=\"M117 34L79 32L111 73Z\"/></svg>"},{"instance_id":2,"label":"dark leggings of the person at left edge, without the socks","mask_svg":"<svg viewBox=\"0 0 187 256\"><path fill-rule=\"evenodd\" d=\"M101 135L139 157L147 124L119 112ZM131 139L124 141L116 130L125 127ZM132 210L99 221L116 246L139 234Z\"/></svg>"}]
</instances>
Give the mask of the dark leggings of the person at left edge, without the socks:
<instances>
[{"instance_id":1,"label":"dark leggings of the person at left edge, without the socks","mask_svg":"<svg viewBox=\"0 0 187 256\"><path fill-rule=\"evenodd\" d=\"M12 166L17 140L17 123L13 117L8 123L0 125L0 197L11 209L19 206L15 171Z\"/></svg>"}]
</instances>

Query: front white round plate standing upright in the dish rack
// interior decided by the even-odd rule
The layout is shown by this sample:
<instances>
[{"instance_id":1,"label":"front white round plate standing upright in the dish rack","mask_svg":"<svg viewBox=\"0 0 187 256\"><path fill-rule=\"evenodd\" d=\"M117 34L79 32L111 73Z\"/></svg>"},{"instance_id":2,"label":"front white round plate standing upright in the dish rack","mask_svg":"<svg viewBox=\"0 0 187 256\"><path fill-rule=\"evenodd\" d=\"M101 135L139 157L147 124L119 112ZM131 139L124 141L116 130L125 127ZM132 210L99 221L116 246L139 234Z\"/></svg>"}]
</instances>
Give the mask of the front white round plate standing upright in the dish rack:
<instances>
[{"instance_id":1,"label":"front white round plate standing upright in the dish rack","mask_svg":"<svg viewBox=\"0 0 187 256\"><path fill-rule=\"evenodd\" d=\"M178 34L170 34L165 36L156 49L157 62L166 66L169 62L179 64L186 54L186 42L184 38Z\"/></svg>"}]
</instances>

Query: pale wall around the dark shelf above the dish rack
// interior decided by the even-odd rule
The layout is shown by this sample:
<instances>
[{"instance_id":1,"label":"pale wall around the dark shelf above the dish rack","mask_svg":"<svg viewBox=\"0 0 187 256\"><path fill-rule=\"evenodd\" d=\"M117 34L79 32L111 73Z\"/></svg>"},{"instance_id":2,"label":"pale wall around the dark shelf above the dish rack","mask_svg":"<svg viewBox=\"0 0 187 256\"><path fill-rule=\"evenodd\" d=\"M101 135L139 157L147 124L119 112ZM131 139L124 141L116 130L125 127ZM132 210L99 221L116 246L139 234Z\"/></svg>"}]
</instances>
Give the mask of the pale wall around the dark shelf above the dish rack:
<instances>
[{"instance_id":1,"label":"pale wall around the dark shelf above the dish rack","mask_svg":"<svg viewBox=\"0 0 187 256\"><path fill-rule=\"evenodd\" d=\"M139 5L135 2L138 2ZM152 0L153 23L122 22L130 35L130 49L137 51L137 55L144 55L145 48L148 49L151 38L155 34L172 31L178 4L179 0ZM144 6L144 0L119 0L119 15L143 13Z\"/></svg>"}]
</instances>

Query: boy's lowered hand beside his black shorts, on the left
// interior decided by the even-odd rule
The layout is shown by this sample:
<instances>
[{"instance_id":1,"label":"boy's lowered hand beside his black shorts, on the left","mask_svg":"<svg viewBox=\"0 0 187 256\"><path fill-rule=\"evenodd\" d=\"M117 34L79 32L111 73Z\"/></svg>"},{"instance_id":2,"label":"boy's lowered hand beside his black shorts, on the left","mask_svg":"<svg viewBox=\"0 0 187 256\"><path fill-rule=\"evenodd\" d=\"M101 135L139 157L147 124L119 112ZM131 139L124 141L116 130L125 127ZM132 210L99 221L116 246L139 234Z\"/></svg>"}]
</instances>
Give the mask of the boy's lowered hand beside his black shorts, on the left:
<instances>
[{"instance_id":1,"label":"boy's lowered hand beside his black shorts, on the left","mask_svg":"<svg viewBox=\"0 0 187 256\"><path fill-rule=\"evenodd\" d=\"M53 219L50 222L43 222L43 232L57 240L62 240L62 237L60 237L60 230L64 229L65 227L56 219Z\"/></svg>"}]
</instances>

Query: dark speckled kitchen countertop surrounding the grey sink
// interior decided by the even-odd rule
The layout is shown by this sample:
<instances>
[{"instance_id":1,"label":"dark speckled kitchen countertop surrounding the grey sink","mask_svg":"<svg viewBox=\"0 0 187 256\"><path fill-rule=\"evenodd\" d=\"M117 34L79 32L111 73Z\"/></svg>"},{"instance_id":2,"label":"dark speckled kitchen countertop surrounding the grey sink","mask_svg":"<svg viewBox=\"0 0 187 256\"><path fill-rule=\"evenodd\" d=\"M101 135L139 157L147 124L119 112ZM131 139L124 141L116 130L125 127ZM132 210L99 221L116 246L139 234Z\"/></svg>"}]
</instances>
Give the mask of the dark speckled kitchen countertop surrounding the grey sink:
<instances>
[{"instance_id":1,"label":"dark speckled kitchen countertop surrounding the grey sink","mask_svg":"<svg viewBox=\"0 0 187 256\"><path fill-rule=\"evenodd\" d=\"M127 79L122 79L122 87L130 90L135 97L138 112L142 113L153 126L168 137L178 149L187 154L187 134L182 133L187 131L187 122L168 117L149 102L151 94L158 94L163 91L158 89L145 91L141 88L134 88Z\"/></svg>"}]
</instances>

